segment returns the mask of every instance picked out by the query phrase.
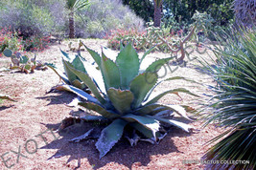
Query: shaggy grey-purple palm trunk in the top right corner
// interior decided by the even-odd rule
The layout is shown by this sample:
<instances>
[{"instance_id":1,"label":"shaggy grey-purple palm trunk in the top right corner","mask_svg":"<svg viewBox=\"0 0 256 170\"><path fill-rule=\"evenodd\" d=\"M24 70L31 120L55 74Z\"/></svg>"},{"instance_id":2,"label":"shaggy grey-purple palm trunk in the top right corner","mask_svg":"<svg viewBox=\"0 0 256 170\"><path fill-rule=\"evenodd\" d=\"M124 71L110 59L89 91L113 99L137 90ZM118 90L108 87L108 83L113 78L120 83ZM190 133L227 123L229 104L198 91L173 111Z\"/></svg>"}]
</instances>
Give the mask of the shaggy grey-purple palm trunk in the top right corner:
<instances>
[{"instance_id":1,"label":"shaggy grey-purple palm trunk in the top right corner","mask_svg":"<svg viewBox=\"0 0 256 170\"><path fill-rule=\"evenodd\" d=\"M238 23L242 23L245 27L256 26L255 0L235 0L233 6Z\"/></svg>"}]
</instances>

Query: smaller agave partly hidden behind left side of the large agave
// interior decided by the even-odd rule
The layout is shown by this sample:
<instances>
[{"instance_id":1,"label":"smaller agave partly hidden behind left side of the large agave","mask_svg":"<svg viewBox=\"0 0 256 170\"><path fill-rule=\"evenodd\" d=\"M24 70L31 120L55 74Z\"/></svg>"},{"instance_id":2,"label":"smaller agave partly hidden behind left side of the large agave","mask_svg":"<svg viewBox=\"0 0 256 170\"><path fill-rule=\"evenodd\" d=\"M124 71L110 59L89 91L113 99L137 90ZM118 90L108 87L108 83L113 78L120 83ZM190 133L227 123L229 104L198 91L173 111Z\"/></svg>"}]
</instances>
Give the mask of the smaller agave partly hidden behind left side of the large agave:
<instances>
[{"instance_id":1,"label":"smaller agave partly hidden behind left side of the large agave","mask_svg":"<svg viewBox=\"0 0 256 170\"><path fill-rule=\"evenodd\" d=\"M47 66L51 68L56 74L58 74L59 78L63 80L65 84L73 85L84 91L87 90L87 86L81 81L81 79L76 74L74 74L69 69L69 67L66 66L64 62L64 61L67 61L71 63L76 70L79 70L82 73L86 73L86 70L84 68L84 64L86 64L84 63L85 59L81 57L80 53L76 54L75 57L69 56L68 53L65 53L63 51L61 51L61 53L63 54L62 62L63 62L65 74L62 74L62 72L59 71L59 69L53 64L47 64ZM55 87L55 89L63 90L61 85Z\"/></svg>"}]
</instances>

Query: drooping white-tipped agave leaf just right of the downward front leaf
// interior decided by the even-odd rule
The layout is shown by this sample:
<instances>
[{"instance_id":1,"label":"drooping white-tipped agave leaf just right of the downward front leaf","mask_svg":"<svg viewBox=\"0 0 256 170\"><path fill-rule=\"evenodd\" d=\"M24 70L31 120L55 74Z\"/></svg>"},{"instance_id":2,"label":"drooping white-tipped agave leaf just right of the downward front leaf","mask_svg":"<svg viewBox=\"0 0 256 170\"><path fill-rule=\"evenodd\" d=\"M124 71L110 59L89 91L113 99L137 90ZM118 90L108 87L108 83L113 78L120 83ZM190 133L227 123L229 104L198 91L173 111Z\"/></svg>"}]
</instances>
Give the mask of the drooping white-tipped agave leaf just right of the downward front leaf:
<instances>
[{"instance_id":1,"label":"drooping white-tipped agave leaf just right of the downward front leaf","mask_svg":"<svg viewBox=\"0 0 256 170\"><path fill-rule=\"evenodd\" d=\"M151 118L151 117L141 117L141 116L135 116L132 114L128 114L124 117L122 117L124 119L126 119L128 122L138 122L141 125L143 125L144 127L146 127L147 129L151 130L152 135L156 141L156 132L159 131L160 128L160 123L158 120Z\"/></svg>"}]
</instances>

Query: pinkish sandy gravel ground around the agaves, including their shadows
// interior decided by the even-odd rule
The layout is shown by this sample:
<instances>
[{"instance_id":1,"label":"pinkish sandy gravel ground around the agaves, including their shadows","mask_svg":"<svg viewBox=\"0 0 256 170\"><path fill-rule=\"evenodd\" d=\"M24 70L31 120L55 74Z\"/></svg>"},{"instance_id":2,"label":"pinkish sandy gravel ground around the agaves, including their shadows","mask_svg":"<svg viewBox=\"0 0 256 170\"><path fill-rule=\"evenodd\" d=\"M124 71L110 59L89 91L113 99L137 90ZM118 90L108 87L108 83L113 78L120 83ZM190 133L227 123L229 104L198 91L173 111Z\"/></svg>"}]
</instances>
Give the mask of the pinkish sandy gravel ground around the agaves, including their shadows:
<instances>
[{"instance_id":1,"label":"pinkish sandy gravel ground around the agaves, including their shadows","mask_svg":"<svg viewBox=\"0 0 256 170\"><path fill-rule=\"evenodd\" d=\"M83 41L89 48L98 52L106 46L105 40L87 39ZM76 46L77 42L73 43ZM42 53L37 59L42 62L55 63L62 68L59 48L67 52L68 41L55 44ZM72 52L67 52L72 53ZM106 52L107 53L107 52ZM142 54L142 53L140 53ZM197 52L194 56L199 56ZM82 56L91 60L87 52ZM106 54L107 55L107 54ZM149 61L155 58L168 57L168 53L151 53ZM204 58L207 54L200 55ZM199 72L196 60L189 61L186 67L171 66L162 70L162 76L182 75L202 84L214 84L213 79ZM147 61L145 61L147 65ZM0 67L8 67L9 58L0 57ZM130 147L126 139L121 139L111 151L99 159L95 139L72 143L68 140L78 137L95 124L77 123L56 133L59 123L69 117L72 108L65 106L75 95L67 92L46 94L59 83L58 75L52 70L35 71L24 74L16 71L0 73L1 94L7 94L17 102L2 100L0 104L0 169L204 169L205 165L191 160L200 160L211 145L205 143L221 133L221 128L210 125L202 129L200 121L186 121L198 131L191 133L172 128L159 144L140 141ZM164 77L163 77L164 78ZM209 94L205 86L182 80L161 84L156 91L172 88L187 88L198 96ZM190 104L198 107L202 98L180 94L168 95L159 102L165 104ZM189 160L189 161L186 161Z\"/></svg>"}]
</instances>

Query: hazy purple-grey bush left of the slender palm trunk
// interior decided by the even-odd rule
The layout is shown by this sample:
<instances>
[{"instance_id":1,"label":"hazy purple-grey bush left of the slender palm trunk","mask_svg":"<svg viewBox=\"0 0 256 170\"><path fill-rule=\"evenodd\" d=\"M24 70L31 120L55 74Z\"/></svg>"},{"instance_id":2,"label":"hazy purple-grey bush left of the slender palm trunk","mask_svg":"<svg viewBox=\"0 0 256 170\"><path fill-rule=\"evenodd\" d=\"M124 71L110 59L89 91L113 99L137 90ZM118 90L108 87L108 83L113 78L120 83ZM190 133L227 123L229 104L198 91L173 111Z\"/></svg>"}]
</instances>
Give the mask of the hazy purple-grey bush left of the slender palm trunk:
<instances>
[{"instance_id":1,"label":"hazy purple-grey bush left of the slender palm trunk","mask_svg":"<svg viewBox=\"0 0 256 170\"><path fill-rule=\"evenodd\" d=\"M19 30L21 35L45 35L59 31L63 24L62 1L8 0L0 11L0 25ZM53 8L58 7L58 8ZM57 11L59 10L59 11Z\"/></svg>"}]
</instances>

